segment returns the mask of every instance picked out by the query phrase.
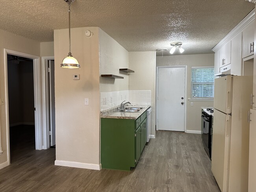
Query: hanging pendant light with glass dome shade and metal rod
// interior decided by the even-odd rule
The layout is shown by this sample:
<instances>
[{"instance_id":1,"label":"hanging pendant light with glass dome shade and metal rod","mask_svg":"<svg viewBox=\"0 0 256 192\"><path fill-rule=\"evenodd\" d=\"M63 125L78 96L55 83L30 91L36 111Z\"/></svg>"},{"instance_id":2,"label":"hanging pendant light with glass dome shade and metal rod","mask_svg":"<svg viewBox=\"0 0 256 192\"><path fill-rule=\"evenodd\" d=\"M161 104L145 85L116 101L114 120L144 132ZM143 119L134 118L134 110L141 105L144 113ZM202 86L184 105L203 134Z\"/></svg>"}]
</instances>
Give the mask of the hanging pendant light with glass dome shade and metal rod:
<instances>
[{"instance_id":1,"label":"hanging pendant light with glass dome shade and metal rod","mask_svg":"<svg viewBox=\"0 0 256 192\"><path fill-rule=\"evenodd\" d=\"M80 68L80 65L77 59L72 56L70 51L70 4L75 0L64 0L64 1L69 4L69 53L67 57L65 57L62 60L62 63L60 64L60 66L63 68Z\"/></svg>"}]
</instances>

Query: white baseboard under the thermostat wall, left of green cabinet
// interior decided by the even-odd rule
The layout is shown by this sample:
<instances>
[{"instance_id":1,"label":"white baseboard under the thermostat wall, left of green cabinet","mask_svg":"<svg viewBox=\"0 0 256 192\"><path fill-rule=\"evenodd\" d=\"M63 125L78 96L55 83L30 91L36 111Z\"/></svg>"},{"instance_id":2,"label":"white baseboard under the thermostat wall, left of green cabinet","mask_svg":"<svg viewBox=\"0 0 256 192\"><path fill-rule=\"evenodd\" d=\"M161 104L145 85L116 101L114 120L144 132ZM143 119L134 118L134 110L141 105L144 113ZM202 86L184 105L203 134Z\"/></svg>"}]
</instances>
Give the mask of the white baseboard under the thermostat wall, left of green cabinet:
<instances>
[{"instance_id":1,"label":"white baseboard under the thermostat wall, left of green cabinet","mask_svg":"<svg viewBox=\"0 0 256 192\"><path fill-rule=\"evenodd\" d=\"M101 169L101 164L89 164L89 163L74 162L74 161L55 160L55 165L65 166L65 167L76 167L76 168L83 168L83 169L93 169L93 170Z\"/></svg>"}]
</instances>

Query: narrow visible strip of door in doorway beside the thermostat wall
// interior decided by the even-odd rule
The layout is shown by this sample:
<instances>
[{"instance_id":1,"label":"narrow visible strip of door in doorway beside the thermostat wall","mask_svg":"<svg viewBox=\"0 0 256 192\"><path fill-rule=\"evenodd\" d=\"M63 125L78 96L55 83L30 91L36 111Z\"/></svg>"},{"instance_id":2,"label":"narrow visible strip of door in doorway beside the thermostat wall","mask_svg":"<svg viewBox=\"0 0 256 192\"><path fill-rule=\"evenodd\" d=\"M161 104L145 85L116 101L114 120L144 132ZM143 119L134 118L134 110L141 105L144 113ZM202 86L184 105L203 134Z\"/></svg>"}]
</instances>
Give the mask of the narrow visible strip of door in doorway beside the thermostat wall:
<instances>
[{"instance_id":1,"label":"narrow visible strip of door in doorway beside the thermostat wall","mask_svg":"<svg viewBox=\"0 0 256 192\"><path fill-rule=\"evenodd\" d=\"M55 145L55 94L54 94L54 61L49 61L49 109L50 109L50 145Z\"/></svg>"}]
</instances>

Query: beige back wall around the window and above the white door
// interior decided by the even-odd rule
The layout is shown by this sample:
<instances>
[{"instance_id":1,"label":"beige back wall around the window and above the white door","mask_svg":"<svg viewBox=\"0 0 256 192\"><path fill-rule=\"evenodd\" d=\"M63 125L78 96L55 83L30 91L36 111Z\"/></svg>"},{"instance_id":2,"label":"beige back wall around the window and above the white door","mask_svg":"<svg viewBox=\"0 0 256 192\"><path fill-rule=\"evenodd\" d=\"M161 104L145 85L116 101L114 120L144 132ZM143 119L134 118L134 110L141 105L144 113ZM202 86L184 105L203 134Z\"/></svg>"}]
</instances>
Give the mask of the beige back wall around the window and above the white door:
<instances>
[{"instance_id":1,"label":"beige back wall around the window and above the white door","mask_svg":"<svg viewBox=\"0 0 256 192\"><path fill-rule=\"evenodd\" d=\"M187 130L201 131L201 108L213 107L213 102L189 101L191 95L191 67L214 66L214 54L174 55L156 57L156 66L187 65ZM194 106L191 106L193 102Z\"/></svg>"}]
</instances>

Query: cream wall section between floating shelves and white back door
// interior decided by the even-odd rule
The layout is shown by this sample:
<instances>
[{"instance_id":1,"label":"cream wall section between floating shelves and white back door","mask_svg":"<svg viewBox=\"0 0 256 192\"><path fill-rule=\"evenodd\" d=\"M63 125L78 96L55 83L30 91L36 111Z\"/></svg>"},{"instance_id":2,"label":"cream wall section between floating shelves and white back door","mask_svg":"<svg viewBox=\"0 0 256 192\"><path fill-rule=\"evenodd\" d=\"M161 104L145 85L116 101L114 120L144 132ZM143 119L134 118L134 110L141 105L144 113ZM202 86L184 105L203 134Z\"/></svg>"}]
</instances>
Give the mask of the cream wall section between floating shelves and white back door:
<instances>
[{"instance_id":1,"label":"cream wall section between floating shelves and white back door","mask_svg":"<svg viewBox=\"0 0 256 192\"><path fill-rule=\"evenodd\" d=\"M151 90L152 130L155 135L156 52L129 52L129 90Z\"/></svg>"}]
</instances>

